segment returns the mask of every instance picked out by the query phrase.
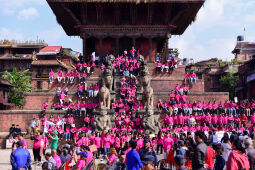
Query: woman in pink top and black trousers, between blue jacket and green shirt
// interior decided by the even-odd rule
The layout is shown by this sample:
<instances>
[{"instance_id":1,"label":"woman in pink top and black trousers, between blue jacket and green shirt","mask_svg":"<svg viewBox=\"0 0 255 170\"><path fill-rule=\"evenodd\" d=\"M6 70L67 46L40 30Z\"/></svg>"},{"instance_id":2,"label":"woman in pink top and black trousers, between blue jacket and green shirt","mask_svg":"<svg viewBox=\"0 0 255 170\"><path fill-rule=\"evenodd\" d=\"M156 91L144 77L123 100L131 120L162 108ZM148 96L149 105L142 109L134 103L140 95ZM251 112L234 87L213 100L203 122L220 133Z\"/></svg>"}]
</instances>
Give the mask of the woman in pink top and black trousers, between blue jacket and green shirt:
<instances>
[{"instance_id":1,"label":"woman in pink top and black trousers, between blue jacket and green shirt","mask_svg":"<svg viewBox=\"0 0 255 170\"><path fill-rule=\"evenodd\" d=\"M33 142L34 161L35 162L41 162L40 149L41 149L42 136L40 136L40 132L37 131L35 136L31 136L31 140L34 141Z\"/></svg>"}]
</instances>

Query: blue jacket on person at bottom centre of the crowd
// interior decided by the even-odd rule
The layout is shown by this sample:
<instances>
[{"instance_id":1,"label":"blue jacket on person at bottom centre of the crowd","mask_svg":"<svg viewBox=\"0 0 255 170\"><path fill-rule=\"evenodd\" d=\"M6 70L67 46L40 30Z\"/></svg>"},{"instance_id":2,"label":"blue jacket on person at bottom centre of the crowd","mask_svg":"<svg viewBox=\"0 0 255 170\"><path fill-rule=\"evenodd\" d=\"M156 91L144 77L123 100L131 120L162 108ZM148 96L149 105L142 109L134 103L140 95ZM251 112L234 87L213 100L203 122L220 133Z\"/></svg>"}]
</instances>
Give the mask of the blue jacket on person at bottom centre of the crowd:
<instances>
[{"instance_id":1,"label":"blue jacket on person at bottom centre of the crowd","mask_svg":"<svg viewBox=\"0 0 255 170\"><path fill-rule=\"evenodd\" d=\"M127 169L139 170L143 167L140 156L136 150L131 150L127 153Z\"/></svg>"}]
</instances>

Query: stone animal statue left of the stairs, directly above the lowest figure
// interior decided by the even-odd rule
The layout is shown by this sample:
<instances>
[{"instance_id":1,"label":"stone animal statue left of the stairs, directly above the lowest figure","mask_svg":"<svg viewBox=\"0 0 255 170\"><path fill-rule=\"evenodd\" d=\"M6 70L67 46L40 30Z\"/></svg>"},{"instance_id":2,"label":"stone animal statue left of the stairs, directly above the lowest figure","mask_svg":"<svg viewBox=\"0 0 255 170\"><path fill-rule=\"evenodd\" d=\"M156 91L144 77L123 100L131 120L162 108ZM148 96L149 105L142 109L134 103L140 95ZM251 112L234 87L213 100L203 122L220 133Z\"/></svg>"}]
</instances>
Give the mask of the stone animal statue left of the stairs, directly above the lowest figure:
<instances>
[{"instance_id":1,"label":"stone animal statue left of the stairs, directly above the lowest figure","mask_svg":"<svg viewBox=\"0 0 255 170\"><path fill-rule=\"evenodd\" d=\"M99 91L100 108L106 107L110 109L111 106L111 93L110 90L103 84Z\"/></svg>"}]
</instances>

